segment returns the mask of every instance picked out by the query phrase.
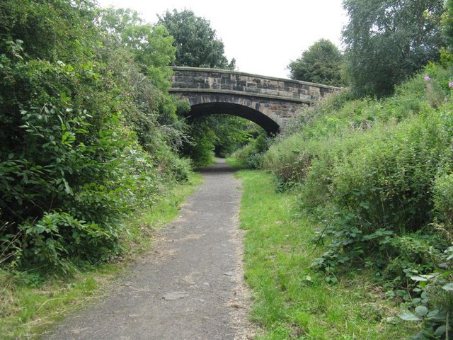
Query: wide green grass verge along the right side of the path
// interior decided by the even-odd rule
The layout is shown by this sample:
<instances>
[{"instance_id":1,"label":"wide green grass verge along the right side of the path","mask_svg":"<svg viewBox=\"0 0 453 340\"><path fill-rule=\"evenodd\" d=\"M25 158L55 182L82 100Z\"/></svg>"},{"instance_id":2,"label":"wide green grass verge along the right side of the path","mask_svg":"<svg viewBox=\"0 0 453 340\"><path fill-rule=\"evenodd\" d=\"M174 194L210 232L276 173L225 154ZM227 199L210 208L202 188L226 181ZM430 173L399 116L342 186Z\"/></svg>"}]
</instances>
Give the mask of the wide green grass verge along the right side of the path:
<instances>
[{"instance_id":1,"label":"wide green grass verge along the right side of the path","mask_svg":"<svg viewBox=\"0 0 453 340\"><path fill-rule=\"evenodd\" d=\"M351 271L333 285L310 268L322 249L312 241L316 225L294 211L294 194L276 193L262 171L239 171L238 176L251 318L263 329L257 339L404 339L413 334L415 325L397 317L388 321L400 310L369 273Z\"/></svg>"}]
</instances>

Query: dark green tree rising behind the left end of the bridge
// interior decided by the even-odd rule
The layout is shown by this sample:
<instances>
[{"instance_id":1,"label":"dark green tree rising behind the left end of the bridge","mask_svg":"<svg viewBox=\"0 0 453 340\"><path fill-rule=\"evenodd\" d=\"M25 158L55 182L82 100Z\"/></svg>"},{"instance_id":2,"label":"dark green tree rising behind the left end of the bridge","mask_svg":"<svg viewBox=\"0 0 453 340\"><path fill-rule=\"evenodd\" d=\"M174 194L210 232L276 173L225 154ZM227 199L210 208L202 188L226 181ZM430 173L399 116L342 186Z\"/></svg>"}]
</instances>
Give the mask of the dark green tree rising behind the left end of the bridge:
<instances>
[{"instance_id":1,"label":"dark green tree rising behind the left end of the bridge","mask_svg":"<svg viewBox=\"0 0 453 340\"><path fill-rule=\"evenodd\" d=\"M224 43L217 38L207 19L187 9L180 12L174 9L159 16L158 24L165 26L175 39L176 66L234 69L236 61L228 62Z\"/></svg>"}]
</instances>

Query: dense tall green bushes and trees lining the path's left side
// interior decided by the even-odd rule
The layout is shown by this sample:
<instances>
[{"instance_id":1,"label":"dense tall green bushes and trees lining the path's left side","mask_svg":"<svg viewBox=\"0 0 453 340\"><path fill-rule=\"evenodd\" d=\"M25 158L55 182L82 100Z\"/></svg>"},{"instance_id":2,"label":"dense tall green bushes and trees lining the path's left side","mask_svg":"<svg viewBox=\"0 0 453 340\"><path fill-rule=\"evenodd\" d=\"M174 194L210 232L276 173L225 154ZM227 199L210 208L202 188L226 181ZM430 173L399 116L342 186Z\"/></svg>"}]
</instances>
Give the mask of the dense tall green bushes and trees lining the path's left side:
<instances>
[{"instance_id":1,"label":"dense tall green bushes and trees lining the path's left side","mask_svg":"<svg viewBox=\"0 0 453 340\"><path fill-rule=\"evenodd\" d=\"M110 259L124 217L190 172L181 135L161 126L180 106L165 92L173 40L121 16L108 28L90 1L0 12L0 264L68 273Z\"/></svg>"}]
</instances>

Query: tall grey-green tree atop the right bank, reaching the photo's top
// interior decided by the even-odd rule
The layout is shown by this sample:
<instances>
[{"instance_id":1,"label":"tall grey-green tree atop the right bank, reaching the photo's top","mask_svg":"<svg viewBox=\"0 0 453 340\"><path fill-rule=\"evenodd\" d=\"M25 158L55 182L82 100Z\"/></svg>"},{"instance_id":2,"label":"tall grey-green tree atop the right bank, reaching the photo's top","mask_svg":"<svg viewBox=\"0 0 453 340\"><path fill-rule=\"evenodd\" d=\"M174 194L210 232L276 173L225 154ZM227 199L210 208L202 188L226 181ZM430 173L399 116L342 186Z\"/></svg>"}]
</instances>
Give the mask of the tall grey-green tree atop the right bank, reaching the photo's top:
<instances>
[{"instance_id":1,"label":"tall grey-green tree atop the right bank, reaching the photo's top","mask_svg":"<svg viewBox=\"0 0 453 340\"><path fill-rule=\"evenodd\" d=\"M347 69L357 96L386 96L428 61L444 40L443 0L345 0Z\"/></svg>"}]
</instances>

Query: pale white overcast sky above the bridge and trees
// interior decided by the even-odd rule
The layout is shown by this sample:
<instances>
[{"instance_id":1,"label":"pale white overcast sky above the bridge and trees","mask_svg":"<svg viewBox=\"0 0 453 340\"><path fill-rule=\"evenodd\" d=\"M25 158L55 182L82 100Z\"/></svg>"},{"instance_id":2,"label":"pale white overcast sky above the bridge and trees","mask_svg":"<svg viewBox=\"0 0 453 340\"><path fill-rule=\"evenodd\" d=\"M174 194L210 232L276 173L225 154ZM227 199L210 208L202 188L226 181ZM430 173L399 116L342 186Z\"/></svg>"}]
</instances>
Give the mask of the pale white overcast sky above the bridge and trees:
<instances>
[{"instance_id":1,"label":"pale white overcast sky above the bridge and trees","mask_svg":"<svg viewBox=\"0 0 453 340\"><path fill-rule=\"evenodd\" d=\"M341 48L347 17L342 0L98 0L102 7L132 8L149 23L167 9L205 17L239 71L287 78L287 65L316 40Z\"/></svg>"}]
</instances>

